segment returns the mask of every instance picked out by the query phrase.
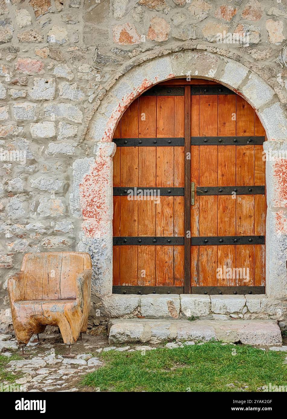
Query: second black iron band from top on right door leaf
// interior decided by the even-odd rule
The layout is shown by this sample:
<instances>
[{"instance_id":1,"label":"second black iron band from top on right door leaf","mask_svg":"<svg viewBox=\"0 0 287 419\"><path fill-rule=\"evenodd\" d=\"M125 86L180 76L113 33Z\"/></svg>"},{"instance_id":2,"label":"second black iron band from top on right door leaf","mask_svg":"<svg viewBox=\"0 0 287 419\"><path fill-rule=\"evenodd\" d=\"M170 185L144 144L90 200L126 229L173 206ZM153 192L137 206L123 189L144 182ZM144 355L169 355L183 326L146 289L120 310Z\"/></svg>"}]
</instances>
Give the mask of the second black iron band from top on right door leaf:
<instances>
[{"instance_id":1,"label":"second black iron band from top on right door leaf","mask_svg":"<svg viewBox=\"0 0 287 419\"><path fill-rule=\"evenodd\" d=\"M264 136L239 137L190 137L191 145L261 145Z\"/></svg>"}]
</instances>

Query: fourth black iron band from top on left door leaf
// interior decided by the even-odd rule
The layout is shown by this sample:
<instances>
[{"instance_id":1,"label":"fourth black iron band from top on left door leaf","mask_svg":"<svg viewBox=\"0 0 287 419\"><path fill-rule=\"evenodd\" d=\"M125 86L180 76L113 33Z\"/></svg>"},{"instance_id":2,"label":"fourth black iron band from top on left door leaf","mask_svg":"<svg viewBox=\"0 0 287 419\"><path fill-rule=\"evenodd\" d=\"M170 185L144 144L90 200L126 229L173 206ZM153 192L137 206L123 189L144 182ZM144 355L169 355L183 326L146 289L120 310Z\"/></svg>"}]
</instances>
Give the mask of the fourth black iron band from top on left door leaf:
<instances>
[{"instance_id":1,"label":"fourth black iron band from top on left door leaf","mask_svg":"<svg viewBox=\"0 0 287 419\"><path fill-rule=\"evenodd\" d=\"M143 246L167 246L167 245L184 245L184 237L113 237L112 244L114 246L123 245L143 245Z\"/></svg>"}]
</instances>

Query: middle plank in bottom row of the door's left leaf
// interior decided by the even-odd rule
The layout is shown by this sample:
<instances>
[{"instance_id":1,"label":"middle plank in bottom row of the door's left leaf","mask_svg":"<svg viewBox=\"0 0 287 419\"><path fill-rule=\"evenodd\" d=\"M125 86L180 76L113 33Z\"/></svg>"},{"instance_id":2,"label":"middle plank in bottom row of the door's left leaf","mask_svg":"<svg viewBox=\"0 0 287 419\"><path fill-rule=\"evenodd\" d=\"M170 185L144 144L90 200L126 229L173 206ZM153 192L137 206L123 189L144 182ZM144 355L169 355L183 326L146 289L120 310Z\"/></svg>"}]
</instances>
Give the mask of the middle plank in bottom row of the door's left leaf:
<instances>
[{"instance_id":1,"label":"middle plank in bottom row of the door's left leaf","mask_svg":"<svg viewBox=\"0 0 287 419\"><path fill-rule=\"evenodd\" d=\"M138 285L155 285L155 247L156 246L137 246L138 247Z\"/></svg>"}]
</instances>

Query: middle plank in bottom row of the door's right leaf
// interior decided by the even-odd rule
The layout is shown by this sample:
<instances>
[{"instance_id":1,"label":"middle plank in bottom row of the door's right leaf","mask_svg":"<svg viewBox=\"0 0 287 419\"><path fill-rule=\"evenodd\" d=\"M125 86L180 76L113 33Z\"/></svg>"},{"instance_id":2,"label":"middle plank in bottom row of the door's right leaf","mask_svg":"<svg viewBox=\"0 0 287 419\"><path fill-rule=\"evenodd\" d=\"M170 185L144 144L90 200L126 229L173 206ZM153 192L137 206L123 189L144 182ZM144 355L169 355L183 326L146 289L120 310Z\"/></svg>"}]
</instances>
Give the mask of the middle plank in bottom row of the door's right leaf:
<instances>
[{"instance_id":1,"label":"middle plank in bottom row of the door's right leaf","mask_svg":"<svg viewBox=\"0 0 287 419\"><path fill-rule=\"evenodd\" d=\"M236 267L235 246L217 246L217 274L218 287L234 287L236 279L233 276L233 268Z\"/></svg>"}]
</instances>

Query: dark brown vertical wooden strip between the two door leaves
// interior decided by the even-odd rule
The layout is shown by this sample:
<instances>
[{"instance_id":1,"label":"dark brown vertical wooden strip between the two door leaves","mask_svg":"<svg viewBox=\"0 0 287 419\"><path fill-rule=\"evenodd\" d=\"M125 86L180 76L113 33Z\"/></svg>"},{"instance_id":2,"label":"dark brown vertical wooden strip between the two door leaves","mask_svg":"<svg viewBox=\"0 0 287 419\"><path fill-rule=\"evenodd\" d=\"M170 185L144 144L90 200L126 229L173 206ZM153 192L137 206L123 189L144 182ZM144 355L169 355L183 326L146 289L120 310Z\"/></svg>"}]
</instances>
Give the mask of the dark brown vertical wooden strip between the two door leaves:
<instances>
[{"instance_id":1,"label":"dark brown vertical wooden strip between the two door leaves","mask_svg":"<svg viewBox=\"0 0 287 419\"><path fill-rule=\"evenodd\" d=\"M185 170L184 170L184 292L190 293L190 159L187 156L190 153L190 106L191 95L190 86L185 86L184 93L184 154L185 154Z\"/></svg>"}]
</instances>

